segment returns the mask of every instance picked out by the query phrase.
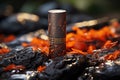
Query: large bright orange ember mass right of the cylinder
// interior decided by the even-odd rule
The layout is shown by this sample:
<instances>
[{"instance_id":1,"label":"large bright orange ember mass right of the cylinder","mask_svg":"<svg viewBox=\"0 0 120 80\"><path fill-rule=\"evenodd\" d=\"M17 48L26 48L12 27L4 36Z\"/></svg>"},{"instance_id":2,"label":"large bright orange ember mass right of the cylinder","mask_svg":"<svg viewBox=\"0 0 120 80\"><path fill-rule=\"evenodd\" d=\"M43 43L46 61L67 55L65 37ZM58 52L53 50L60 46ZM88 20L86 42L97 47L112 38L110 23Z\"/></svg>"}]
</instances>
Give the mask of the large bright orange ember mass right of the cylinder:
<instances>
[{"instance_id":1,"label":"large bright orange ember mass right of the cylinder","mask_svg":"<svg viewBox=\"0 0 120 80\"><path fill-rule=\"evenodd\" d=\"M66 36L66 47L79 49L82 51L88 51L88 53L92 53L92 50L96 49L97 44L87 44L87 42L91 41L99 41L98 43L102 42L104 44L109 37L114 37L116 34L110 30L109 27L104 27L100 30L89 30L87 31L79 29L78 27L73 27L73 30L76 33L68 33ZM102 44L100 43L98 46L101 48ZM109 44L109 45L108 45ZM116 43L106 43L105 46L114 46Z\"/></svg>"}]
</instances>

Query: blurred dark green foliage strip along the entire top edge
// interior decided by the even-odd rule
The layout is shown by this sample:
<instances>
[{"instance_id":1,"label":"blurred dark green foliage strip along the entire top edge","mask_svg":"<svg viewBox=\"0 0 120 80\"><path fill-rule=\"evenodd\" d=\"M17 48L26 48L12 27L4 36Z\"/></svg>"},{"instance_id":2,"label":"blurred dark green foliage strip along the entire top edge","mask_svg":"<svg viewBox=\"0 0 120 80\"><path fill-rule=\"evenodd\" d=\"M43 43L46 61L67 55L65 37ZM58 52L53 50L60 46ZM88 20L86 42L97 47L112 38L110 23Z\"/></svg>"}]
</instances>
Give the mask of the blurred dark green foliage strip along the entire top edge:
<instances>
[{"instance_id":1,"label":"blurred dark green foliage strip along the entire top edge","mask_svg":"<svg viewBox=\"0 0 120 80\"><path fill-rule=\"evenodd\" d=\"M14 12L32 12L38 6L50 1L67 3L80 12L92 15L120 12L120 0L0 0L0 4L13 5Z\"/></svg>"}]
</instances>

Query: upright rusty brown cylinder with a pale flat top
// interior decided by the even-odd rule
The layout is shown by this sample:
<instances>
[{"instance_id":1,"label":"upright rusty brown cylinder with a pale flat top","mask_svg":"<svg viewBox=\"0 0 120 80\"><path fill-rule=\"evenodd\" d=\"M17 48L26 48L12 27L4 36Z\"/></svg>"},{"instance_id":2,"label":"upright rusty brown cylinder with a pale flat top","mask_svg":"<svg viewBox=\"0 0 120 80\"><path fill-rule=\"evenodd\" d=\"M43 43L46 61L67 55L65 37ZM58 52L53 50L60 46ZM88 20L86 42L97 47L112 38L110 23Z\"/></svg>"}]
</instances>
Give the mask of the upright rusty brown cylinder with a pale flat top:
<instances>
[{"instance_id":1,"label":"upright rusty brown cylinder with a pale flat top","mask_svg":"<svg viewBox=\"0 0 120 80\"><path fill-rule=\"evenodd\" d=\"M48 11L48 35L51 58L66 53L66 10Z\"/></svg>"}]
</instances>

